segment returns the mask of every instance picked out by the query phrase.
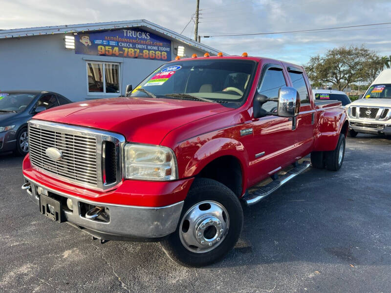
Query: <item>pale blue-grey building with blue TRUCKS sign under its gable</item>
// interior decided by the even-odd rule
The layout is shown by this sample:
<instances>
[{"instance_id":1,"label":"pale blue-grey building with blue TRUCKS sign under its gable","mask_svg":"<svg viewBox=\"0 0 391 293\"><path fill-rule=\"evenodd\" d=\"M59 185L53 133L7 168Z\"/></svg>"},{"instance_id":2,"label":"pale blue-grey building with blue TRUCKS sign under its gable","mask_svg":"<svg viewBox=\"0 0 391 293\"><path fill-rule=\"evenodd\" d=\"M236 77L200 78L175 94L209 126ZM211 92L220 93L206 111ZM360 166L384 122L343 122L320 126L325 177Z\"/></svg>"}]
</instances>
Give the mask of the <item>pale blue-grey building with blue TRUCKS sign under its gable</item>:
<instances>
[{"instance_id":1,"label":"pale blue-grey building with blue TRUCKS sign under its gable","mask_svg":"<svg viewBox=\"0 0 391 293\"><path fill-rule=\"evenodd\" d=\"M146 20L0 30L0 92L117 97L177 55L206 52L219 51Z\"/></svg>"}]
</instances>

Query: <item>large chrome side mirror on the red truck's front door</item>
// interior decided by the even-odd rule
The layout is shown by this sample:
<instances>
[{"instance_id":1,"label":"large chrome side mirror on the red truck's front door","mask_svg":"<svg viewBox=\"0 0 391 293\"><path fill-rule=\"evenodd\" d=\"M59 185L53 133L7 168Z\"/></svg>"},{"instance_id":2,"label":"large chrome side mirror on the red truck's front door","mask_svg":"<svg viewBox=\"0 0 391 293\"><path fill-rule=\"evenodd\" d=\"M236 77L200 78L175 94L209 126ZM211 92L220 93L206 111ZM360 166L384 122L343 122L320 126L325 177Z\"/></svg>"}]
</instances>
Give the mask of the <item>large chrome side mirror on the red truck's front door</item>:
<instances>
[{"instance_id":1,"label":"large chrome side mirror on the red truck's front door","mask_svg":"<svg viewBox=\"0 0 391 293\"><path fill-rule=\"evenodd\" d=\"M277 115L280 117L296 117L299 112L299 92L293 87L282 86L278 92Z\"/></svg>"}]
</instances>

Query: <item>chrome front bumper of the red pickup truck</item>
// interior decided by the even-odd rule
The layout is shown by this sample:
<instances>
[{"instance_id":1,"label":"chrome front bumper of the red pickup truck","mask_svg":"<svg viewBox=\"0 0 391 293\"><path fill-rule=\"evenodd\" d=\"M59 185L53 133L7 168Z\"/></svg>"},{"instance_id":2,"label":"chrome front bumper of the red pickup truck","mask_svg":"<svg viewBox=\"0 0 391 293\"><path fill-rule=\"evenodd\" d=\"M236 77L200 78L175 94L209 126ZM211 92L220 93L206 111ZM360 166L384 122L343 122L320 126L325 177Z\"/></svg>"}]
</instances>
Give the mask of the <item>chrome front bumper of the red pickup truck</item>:
<instances>
[{"instance_id":1,"label":"chrome front bumper of the red pickup truck","mask_svg":"<svg viewBox=\"0 0 391 293\"><path fill-rule=\"evenodd\" d=\"M23 189L27 190L29 197L37 205L40 204L39 194L37 192L39 187L43 188L43 194L46 193L45 195L47 195L47 192L51 192L65 198L70 198L73 204L73 211L64 210L66 221L81 229L87 228L87 230L92 232L90 232L92 235L96 232L96 235L108 234L124 238L161 238L176 230L183 207L183 201L158 208L99 203L54 190L30 178L24 178L27 183L30 183L31 188ZM110 214L109 222L99 222L83 217L80 203L108 208ZM106 238L103 237L103 239Z\"/></svg>"}]
</instances>

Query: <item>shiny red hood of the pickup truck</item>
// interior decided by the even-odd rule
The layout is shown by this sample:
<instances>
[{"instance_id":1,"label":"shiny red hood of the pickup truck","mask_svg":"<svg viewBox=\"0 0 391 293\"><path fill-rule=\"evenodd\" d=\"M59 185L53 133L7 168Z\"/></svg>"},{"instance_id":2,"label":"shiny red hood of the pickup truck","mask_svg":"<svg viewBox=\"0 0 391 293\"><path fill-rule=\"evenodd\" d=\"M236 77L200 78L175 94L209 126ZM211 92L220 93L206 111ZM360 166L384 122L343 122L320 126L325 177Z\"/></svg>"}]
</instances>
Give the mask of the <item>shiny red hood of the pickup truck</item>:
<instances>
[{"instance_id":1,"label":"shiny red hood of the pickup truck","mask_svg":"<svg viewBox=\"0 0 391 293\"><path fill-rule=\"evenodd\" d=\"M229 110L201 101L124 97L63 105L34 119L104 129L130 142L159 145L172 129Z\"/></svg>"}]
</instances>

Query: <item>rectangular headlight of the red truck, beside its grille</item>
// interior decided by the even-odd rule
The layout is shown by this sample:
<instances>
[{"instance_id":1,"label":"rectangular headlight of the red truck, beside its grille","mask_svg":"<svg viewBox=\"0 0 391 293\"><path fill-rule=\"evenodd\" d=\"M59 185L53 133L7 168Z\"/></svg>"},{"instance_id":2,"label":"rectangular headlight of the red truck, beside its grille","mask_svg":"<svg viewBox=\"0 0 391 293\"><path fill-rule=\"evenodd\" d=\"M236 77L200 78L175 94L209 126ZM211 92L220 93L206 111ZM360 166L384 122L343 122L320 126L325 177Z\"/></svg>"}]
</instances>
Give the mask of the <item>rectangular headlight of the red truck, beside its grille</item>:
<instances>
[{"instance_id":1,"label":"rectangular headlight of the red truck, beside its grille","mask_svg":"<svg viewBox=\"0 0 391 293\"><path fill-rule=\"evenodd\" d=\"M177 179L174 151L165 146L126 144L125 178L168 181Z\"/></svg>"}]
</instances>

